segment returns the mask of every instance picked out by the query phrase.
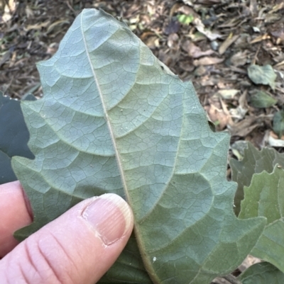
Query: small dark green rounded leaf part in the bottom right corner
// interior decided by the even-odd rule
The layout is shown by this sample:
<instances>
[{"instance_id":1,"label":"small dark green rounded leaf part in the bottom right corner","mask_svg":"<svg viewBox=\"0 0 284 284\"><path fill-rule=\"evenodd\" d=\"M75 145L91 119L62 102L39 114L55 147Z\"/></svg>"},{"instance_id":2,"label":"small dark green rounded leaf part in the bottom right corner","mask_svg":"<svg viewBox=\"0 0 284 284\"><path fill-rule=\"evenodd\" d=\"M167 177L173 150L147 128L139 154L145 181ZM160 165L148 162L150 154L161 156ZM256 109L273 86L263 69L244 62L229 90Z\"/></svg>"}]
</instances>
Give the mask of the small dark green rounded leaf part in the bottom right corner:
<instances>
[{"instance_id":1,"label":"small dark green rounded leaf part in the bottom right corner","mask_svg":"<svg viewBox=\"0 0 284 284\"><path fill-rule=\"evenodd\" d=\"M241 273L239 280L242 284L283 284L284 273L271 263L261 262Z\"/></svg>"}]
</instances>

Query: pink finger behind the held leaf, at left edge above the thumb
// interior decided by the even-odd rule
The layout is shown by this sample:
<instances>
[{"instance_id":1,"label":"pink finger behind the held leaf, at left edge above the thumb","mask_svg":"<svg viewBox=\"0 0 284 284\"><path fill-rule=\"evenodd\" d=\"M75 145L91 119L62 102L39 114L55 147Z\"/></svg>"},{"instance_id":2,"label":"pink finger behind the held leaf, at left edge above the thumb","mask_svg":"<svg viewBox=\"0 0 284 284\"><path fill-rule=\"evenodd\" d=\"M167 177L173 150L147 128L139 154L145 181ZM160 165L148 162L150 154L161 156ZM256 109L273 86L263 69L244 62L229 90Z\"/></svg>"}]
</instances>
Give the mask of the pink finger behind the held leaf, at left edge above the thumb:
<instances>
[{"instance_id":1,"label":"pink finger behind the held leaf, at left edge above the thumb","mask_svg":"<svg viewBox=\"0 0 284 284\"><path fill-rule=\"evenodd\" d=\"M0 186L0 259L9 253L18 241L13 232L31 224L21 184L18 181Z\"/></svg>"}]
</instances>

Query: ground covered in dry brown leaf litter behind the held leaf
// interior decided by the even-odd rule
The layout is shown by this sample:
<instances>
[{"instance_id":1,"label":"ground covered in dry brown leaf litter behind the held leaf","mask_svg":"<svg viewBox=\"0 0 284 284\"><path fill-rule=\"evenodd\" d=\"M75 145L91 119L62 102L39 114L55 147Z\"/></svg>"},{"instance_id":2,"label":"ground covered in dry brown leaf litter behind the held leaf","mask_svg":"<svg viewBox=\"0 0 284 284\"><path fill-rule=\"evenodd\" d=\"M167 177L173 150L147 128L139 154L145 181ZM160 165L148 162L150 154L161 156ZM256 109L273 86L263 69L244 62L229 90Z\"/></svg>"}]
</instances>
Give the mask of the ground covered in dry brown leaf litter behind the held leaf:
<instances>
[{"instance_id":1,"label":"ground covered in dry brown leaf litter behind the held leaf","mask_svg":"<svg viewBox=\"0 0 284 284\"><path fill-rule=\"evenodd\" d=\"M122 17L192 81L234 154L244 140L284 152L283 0L0 0L0 91L43 95L35 63L54 55L82 8Z\"/></svg>"}]
</instances>

